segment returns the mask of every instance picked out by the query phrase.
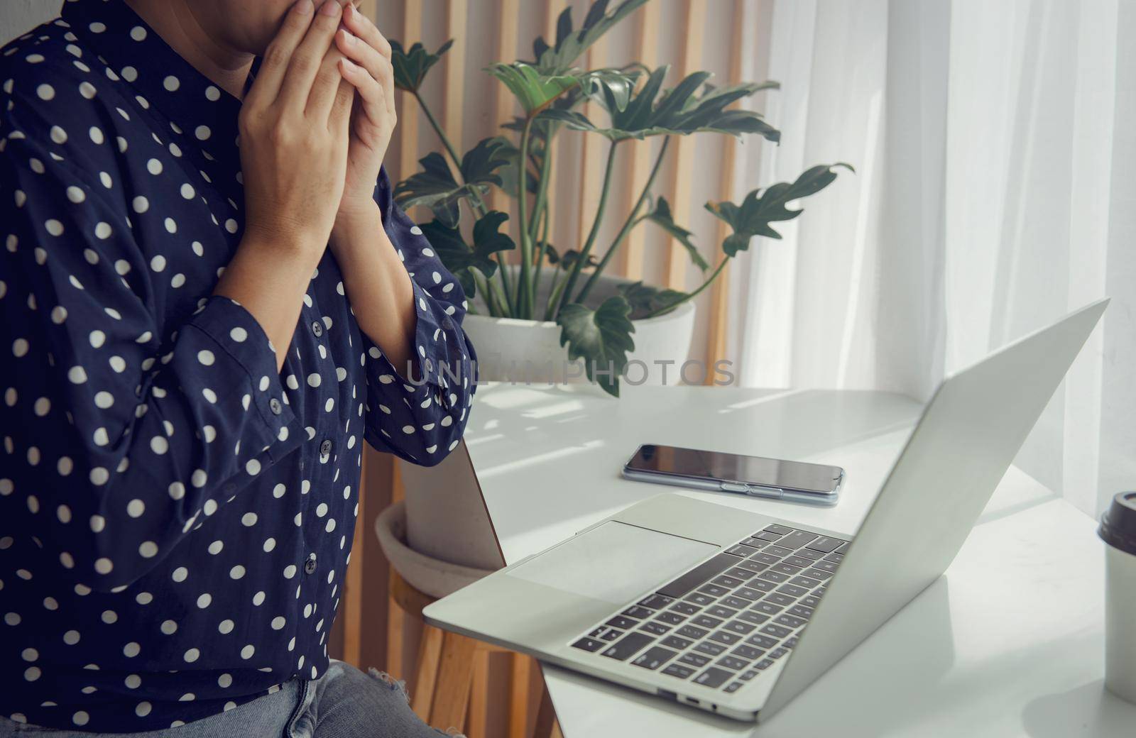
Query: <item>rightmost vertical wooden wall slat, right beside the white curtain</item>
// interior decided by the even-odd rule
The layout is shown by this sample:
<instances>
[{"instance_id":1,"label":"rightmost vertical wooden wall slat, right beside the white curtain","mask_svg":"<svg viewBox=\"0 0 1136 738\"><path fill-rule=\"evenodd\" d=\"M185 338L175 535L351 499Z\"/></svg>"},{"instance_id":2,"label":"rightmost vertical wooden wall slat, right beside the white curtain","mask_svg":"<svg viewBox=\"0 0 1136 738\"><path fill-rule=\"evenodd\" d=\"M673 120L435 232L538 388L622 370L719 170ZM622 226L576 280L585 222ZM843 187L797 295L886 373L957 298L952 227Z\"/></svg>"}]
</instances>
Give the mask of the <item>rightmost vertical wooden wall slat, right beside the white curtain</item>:
<instances>
[{"instance_id":1,"label":"rightmost vertical wooden wall slat, right beside the white curtain","mask_svg":"<svg viewBox=\"0 0 1136 738\"><path fill-rule=\"evenodd\" d=\"M733 7L734 30L729 40L729 77L726 84L737 84L742 81L742 52L746 34L750 37L757 33L755 28L749 28L750 19L745 14L745 0L734 0ZM744 30L744 31L743 31ZM734 173L737 159L737 139L734 136L721 136L721 179L718 184L718 200L734 199ZM718 253L718 244L729 235L729 226L721 220L715 220L713 250ZM729 265L721 270L718 279L710 286L710 330L707 337L707 379L705 384L713 384L713 364L719 359L726 357L726 337L729 327Z\"/></svg>"}]
</instances>

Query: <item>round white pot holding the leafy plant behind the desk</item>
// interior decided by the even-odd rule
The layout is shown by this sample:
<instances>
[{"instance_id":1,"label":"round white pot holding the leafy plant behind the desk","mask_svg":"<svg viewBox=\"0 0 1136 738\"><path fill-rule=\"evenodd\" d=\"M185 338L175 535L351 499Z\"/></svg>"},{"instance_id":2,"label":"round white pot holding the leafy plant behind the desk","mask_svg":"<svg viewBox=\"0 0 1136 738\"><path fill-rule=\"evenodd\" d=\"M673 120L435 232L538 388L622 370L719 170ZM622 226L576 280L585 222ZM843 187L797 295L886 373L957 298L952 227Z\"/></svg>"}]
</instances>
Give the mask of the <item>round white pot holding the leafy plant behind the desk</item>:
<instances>
[{"instance_id":1,"label":"round white pot holding the leafy plant behind the desk","mask_svg":"<svg viewBox=\"0 0 1136 738\"><path fill-rule=\"evenodd\" d=\"M617 294L617 287L627 282L600 277L588 304L600 304ZM537 294L537 304L544 304L542 294ZM680 384L679 367L686 361L694 334L694 303L685 302L657 318L632 320L632 325L635 326L632 335L635 349L627 357L625 381L635 385ZM461 326L477 351L477 371L483 381L588 381L584 361L568 361L568 350L560 345L560 326L553 321L491 318L483 311L467 315Z\"/></svg>"}]
</instances>

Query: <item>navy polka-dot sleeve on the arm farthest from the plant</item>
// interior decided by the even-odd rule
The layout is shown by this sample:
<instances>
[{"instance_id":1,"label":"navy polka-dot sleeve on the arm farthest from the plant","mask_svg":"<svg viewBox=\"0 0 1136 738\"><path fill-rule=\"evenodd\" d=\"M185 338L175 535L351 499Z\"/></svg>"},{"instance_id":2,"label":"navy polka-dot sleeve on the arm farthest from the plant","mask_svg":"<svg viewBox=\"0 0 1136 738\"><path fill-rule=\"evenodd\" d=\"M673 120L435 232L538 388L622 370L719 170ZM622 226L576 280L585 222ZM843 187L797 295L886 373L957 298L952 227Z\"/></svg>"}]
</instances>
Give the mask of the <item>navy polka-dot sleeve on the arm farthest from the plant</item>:
<instances>
[{"instance_id":1,"label":"navy polka-dot sleeve on the arm farthest from the plant","mask_svg":"<svg viewBox=\"0 0 1136 738\"><path fill-rule=\"evenodd\" d=\"M252 315L203 296L159 319L125 207L69 165L23 135L0 157L0 518L43 531L52 576L106 592L303 430Z\"/></svg>"}]
</instances>

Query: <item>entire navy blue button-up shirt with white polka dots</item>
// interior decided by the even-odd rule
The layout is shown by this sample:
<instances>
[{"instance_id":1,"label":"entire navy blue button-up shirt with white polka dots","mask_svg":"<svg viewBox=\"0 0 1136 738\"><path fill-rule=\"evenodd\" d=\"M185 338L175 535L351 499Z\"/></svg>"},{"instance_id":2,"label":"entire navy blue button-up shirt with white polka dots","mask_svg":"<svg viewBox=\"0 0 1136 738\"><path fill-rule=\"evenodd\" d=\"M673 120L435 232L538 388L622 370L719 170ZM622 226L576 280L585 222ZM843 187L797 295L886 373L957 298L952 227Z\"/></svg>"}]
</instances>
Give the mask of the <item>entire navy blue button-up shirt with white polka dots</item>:
<instances>
[{"instance_id":1,"label":"entire navy blue button-up shirt with white polka dots","mask_svg":"<svg viewBox=\"0 0 1136 738\"><path fill-rule=\"evenodd\" d=\"M0 50L0 715L154 730L319 677L362 442L431 464L465 427L460 286L384 173L416 370L360 332L327 252L277 371L211 294L241 241L240 101L122 0L67 2Z\"/></svg>"}]
</instances>

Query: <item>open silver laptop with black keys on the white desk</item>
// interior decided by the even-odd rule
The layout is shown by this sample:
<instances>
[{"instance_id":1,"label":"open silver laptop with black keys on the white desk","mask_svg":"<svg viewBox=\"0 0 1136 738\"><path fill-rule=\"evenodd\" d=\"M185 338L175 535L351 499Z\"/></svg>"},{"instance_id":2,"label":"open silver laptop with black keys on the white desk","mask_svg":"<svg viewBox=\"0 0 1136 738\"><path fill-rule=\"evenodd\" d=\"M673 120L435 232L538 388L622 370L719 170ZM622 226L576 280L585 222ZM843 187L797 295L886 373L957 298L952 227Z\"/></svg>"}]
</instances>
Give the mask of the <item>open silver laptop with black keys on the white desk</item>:
<instances>
[{"instance_id":1,"label":"open silver laptop with black keys on the white desk","mask_svg":"<svg viewBox=\"0 0 1136 738\"><path fill-rule=\"evenodd\" d=\"M854 539L663 494L429 605L426 621L768 718L943 573L1106 304L945 379Z\"/></svg>"}]
</instances>

